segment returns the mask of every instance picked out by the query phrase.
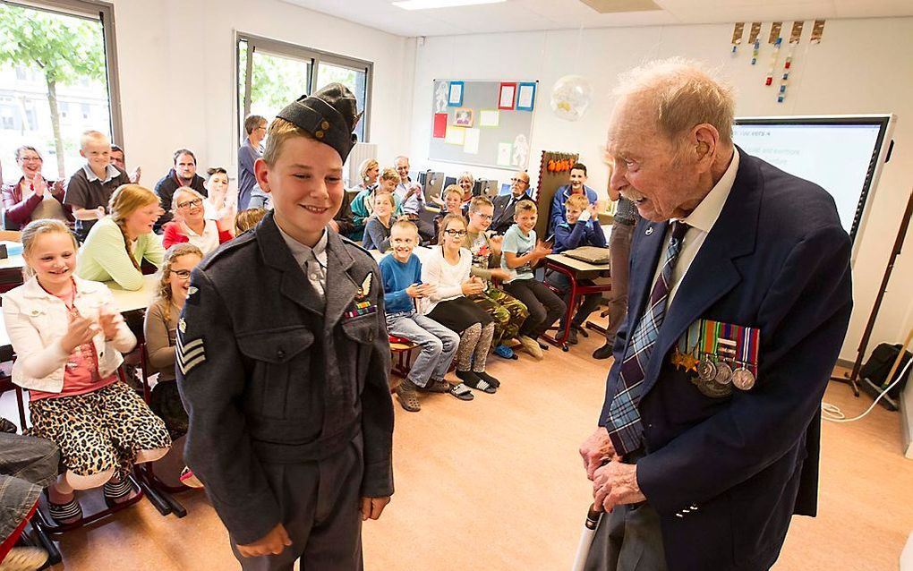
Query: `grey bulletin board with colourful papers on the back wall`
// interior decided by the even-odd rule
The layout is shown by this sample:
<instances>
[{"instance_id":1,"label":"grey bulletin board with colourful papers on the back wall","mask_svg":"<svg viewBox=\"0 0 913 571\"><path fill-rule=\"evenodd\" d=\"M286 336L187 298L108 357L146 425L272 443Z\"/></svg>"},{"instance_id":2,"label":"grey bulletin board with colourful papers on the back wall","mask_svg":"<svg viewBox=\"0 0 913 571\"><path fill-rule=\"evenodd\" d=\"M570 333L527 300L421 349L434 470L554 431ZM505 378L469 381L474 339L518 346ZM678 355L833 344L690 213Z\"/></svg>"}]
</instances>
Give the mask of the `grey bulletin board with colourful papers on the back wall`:
<instances>
[{"instance_id":1,"label":"grey bulletin board with colourful papers on the back wall","mask_svg":"<svg viewBox=\"0 0 913 571\"><path fill-rule=\"evenodd\" d=\"M428 158L526 170L538 81L435 79L432 93Z\"/></svg>"}]
</instances>

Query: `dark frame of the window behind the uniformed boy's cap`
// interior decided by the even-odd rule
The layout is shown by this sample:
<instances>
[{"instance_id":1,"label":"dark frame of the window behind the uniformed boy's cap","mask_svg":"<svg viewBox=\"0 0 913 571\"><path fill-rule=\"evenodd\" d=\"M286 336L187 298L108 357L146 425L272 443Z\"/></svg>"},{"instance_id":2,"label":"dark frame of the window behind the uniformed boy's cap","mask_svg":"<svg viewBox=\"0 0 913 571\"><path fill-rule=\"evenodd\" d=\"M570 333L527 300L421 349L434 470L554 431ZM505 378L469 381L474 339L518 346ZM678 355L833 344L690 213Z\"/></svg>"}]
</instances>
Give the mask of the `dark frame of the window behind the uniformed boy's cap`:
<instances>
[{"instance_id":1,"label":"dark frame of the window behind the uniformed boy's cap","mask_svg":"<svg viewBox=\"0 0 913 571\"><path fill-rule=\"evenodd\" d=\"M233 98L232 106L235 107L235 121L238 140L237 145L240 146L244 141L244 120L242 117L247 117L250 114L250 78L252 76L253 69L253 54L260 49L264 53L276 54L285 58L294 58L307 61L310 59L310 78L308 79L308 93L314 92L314 87L317 82L318 74L320 73L320 62L325 62L333 66L338 66L341 68L353 69L355 71L364 71L364 110L362 111L362 123L364 125L364 140L359 140L360 143L365 143L371 140L371 106L373 100L373 76L374 76L374 63L373 61L368 61L366 59L352 58L350 56L343 56L341 54L332 53L329 51L324 51L322 49L310 48L307 46L299 46L297 44L292 44L278 39L272 39L269 37L256 36L254 34L248 34L247 32L241 32L235 30L235 86L236 90L240 90L241 87L241 74L240 69L238 68L238 63L241 61L241 42L247 42L248 49L248 58L247 58L247 70L245 75L247 76L247 82L245 84L245 93L236 92L236 96ZM244 113L242 114L237 109L237 106L240 101L244 101Z\"/></svg>"}]
</instances>

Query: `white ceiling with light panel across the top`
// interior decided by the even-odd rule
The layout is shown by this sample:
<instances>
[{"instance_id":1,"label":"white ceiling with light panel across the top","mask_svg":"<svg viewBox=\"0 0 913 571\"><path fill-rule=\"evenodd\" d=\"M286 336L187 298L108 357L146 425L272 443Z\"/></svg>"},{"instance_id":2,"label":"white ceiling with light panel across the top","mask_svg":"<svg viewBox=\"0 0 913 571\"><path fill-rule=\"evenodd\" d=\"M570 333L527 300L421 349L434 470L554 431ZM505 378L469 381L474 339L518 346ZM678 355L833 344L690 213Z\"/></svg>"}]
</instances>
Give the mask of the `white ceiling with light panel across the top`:
<instances>
[{"instance_id":1,"label":"white ceiling with light panel across the top","mask_svg":"<svg viewBox=\"0 0 913 571\"><path fill-rule=\"evenodd\" d=\"M663 26L913 16L911 0L654 0L661 10L599 14L579 0L507 0L404 10L393 0L283 0L397 36L449 36L581 27Z\"/></svg>"}]
</instances>

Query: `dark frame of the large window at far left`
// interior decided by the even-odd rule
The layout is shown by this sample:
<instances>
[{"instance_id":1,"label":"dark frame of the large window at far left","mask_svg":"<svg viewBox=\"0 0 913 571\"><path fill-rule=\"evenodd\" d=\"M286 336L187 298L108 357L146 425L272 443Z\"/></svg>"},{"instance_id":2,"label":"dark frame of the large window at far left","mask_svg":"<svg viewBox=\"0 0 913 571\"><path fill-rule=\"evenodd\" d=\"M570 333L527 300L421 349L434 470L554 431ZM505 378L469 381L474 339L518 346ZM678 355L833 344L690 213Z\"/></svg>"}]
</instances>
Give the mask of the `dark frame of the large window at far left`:
<instances>
[{"instance_id":1,"label":"dark frame of the large window at far left","mask_svg":"<svg viewBox=\"0 0 913 571\"><path fill-rule=\"evenodd\" d=\"M123 145L123 116L121 113L121 77L118 74L117 35L114 25L114 5L99 0L0 0L0 3L24 8L55 12L64 16L98 19L105 50L105 73L108 86L108 114L111 141Z\"/></svg>"}]
</instances>

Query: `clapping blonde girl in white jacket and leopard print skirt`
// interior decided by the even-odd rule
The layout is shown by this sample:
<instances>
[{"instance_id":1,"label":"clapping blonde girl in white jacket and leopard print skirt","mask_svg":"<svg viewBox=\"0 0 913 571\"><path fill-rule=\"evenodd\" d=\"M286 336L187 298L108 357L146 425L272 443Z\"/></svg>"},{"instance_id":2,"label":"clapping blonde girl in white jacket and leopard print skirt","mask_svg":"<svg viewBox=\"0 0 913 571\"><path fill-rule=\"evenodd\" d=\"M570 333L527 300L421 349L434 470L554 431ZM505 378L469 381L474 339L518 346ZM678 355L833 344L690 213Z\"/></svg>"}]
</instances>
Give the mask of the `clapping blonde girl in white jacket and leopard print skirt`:
<instances>
[{"instance_id":1,"label":"clapping blonde girl in white jacket and leopard print skirt","mask_svg":"<svg viewBox=\"0 0 913 571\"><path fill-rule=\"evenodd\" d=\"M109 505L129 500L138 492L127 478L133 463L162 458L171 439L118 380L121 354L136 337L104 284L73 275L77 245L68 227L37 220L23 230L22 245L29 277L3 296L17 355L13 382L30 391L31 435L60 449L65 472L48 489L51 517L74 523L82 517L75 490L104 484Z\"/></svg>"}]
</instances>

